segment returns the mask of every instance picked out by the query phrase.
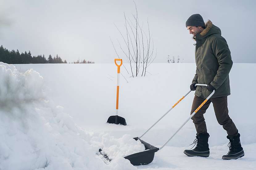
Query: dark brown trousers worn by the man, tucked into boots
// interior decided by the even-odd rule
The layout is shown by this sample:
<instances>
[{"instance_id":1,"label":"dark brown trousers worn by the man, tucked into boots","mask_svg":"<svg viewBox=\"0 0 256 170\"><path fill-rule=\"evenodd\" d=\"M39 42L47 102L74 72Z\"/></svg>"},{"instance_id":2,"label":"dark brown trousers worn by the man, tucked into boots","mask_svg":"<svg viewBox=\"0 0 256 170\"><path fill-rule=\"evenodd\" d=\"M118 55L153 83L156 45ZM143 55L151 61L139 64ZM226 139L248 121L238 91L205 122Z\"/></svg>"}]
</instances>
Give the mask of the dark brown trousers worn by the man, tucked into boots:
<instances>
[{"instance_id":1,"label":"dark brown trousers worn by the man, tucked into boots","mask_svg":"<svg viewBox=\"0 0 256 170\"><path fill-rule=\"evenodd\" d=\"M195 96L190 114L192 114L204 100L205 99L203 98ZM204 113L208 109L211 102L213 102L213 108L214 108L215 116L217 118L218 123L223 126L223 129L227 131L229 136L236 136L238 134L238 130L234 122L232 121L232 119L229 117L227 96L210 98L204 104L204 106L202 106L200 110L198 110L197 113L191 118L193 120L193 123L196 126L197 135L199 133L207 133L206 124L204 121Z\"/></svg>"}]
</instances>

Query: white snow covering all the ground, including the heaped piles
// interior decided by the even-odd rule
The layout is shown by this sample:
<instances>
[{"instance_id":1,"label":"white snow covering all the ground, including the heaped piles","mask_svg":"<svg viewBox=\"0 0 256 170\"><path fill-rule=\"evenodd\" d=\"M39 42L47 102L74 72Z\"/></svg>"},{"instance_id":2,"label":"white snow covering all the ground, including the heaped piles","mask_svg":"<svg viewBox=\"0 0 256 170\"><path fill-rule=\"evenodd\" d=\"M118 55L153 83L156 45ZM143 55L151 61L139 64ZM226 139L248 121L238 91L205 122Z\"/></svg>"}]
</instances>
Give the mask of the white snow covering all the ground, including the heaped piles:
<instances>
[{"instance_id":1,"label":"white snow covering all the ground, including the heaped piles","mask_svg":"<svg viewBox=\"0 0 256 170\"><path fill-rule=\"evenodd\" d=\"M221 159L228 152L228 139L211 105L205 114L210 134L208 158L183 153L196 135L191 120L155 153L151 164L143 166L132 166L122 158L133 153L133 146L140 150L129 138L140 136L189 91L195 64L151 64L146 77L135 78L122 66L119 115L126 118L127 126L106 123L115 115L114 63L15 66L0 63L1 170L256 169L256 64L233 64L230 72L229 115L241 134L244 157ZM193 96L191 92L142 139L163 145L188 118ZM113 154L110 163L96 154L99 147Z\"/></svg>"}]
</instances>

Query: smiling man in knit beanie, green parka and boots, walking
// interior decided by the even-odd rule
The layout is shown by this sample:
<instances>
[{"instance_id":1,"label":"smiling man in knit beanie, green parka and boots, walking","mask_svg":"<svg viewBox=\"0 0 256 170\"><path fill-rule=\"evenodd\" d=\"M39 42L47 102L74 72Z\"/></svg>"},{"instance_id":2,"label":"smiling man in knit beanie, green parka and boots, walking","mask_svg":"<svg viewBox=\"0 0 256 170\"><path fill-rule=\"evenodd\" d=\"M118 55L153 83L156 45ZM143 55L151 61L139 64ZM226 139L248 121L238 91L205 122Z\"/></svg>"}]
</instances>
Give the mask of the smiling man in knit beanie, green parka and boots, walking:
<instances>
[{"instance_id":1,"label":"smiling man in knit beanie, green parka and boots, walking","mask_svg":"<svg viewBox=\"0 0 256 170\"><path fill-rule=\"evenodd\" d=\"M189 33L196 41L196 74L190 85L190 89L195 92L192 103L191 114L198 106L215 90L213 96L201 107L201 109L191 118L196 127L195 149L184 150L188 156L208 157L210 154L204 113L213 103L217 121L227 131L229 139L229 152L222 156L222 159L237 159L244 156L244 151L240 143L240 134L228 115L227 96L230 95L229 71L232 67L232 60L228 44L225 38L221 37L221 30L208 20L204 20L200 14L191 15L186 21ZM196 86L196 83L208 84Z\"/></svg>"}]
</instances>

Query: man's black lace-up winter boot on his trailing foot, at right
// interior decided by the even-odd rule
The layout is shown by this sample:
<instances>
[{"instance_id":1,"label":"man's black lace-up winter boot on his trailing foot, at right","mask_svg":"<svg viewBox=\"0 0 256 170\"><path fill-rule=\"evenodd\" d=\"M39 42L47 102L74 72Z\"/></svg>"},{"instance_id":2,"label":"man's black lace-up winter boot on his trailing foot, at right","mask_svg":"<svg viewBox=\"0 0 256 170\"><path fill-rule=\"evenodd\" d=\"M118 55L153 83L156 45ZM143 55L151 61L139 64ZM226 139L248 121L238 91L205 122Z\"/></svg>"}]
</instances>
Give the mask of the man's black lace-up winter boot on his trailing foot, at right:
<instances>
[{"instance_id":1,"label":"man's black lace-up winter boot on his trailing foot, at right","mask_svg":"<svg viewBox=\"0 0 256 170\"><path fill-rule=\"evenodd\" d=\"M238 133L238 135L234 137L227 136L227 138L229 139L229 152L227 155L223 155L222 159L237 159L245 156L244 150L240 143L240 134Z\"/></svg>"}]
</instances>

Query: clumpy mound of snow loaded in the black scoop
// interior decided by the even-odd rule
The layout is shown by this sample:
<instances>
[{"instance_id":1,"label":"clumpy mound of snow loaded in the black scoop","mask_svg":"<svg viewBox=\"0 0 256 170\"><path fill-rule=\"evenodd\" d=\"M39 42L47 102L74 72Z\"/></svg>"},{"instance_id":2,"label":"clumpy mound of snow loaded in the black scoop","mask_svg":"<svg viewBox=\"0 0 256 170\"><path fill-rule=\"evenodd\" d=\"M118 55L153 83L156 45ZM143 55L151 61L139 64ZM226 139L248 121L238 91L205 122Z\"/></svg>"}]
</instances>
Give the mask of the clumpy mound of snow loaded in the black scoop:
<instances>
[{"instance_id":1,"label":"clumpy mound of snow loaded in the black scoop","mask_svg":"<svg viewBox=\"0 0 256 170\"><path fill-rule=\"evenodd\" d=\"M135 141L131 135L127 134L118 139L105 134L102 136L101 144L102 153L107 155L110 160L145 151L145 146L139 140Z\"/></svg>"}]
</instances>

